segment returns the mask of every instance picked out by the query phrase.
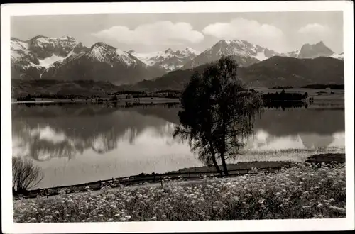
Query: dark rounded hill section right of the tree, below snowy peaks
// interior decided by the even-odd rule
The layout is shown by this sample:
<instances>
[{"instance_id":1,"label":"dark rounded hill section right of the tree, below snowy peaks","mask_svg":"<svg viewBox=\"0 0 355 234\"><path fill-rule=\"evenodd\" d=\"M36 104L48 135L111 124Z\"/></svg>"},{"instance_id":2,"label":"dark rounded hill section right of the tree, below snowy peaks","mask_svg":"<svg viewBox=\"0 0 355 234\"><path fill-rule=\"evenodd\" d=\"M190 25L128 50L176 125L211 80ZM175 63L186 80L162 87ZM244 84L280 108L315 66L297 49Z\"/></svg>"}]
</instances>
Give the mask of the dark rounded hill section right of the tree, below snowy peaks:
<instances>
[{"instance_id":1,"label":"dark rounded hill section right of the tree, below snowy peaks","mask_svg":"<svg viewBox=\"0 0 355 234\"><path fill-rule=\"evenodd\" d=\"M344 84L344 61L332 57L297 59L274 56L241 68L240 76L251 87Z\"/></svg>"}]
</instances>

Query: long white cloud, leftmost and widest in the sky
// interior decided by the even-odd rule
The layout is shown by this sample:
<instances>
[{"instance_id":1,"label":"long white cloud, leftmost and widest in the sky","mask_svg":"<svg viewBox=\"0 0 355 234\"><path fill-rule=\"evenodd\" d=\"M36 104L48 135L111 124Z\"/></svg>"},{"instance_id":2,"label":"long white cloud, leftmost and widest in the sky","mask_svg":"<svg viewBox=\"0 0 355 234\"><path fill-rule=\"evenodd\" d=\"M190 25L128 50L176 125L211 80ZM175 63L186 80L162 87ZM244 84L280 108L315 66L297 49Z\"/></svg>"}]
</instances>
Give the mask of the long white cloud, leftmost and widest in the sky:
<instances>
[{"instance_id":1,"label":"long white cloud, leftmost and widest in the sky","mask_svg":"<svg viewBox=\"0 0 355 234\"><path fill-rule=\"evenodd\" d=\"M93 33L98 38L116 40L119 43L143 45L179 45L182 43L200 43L204 35L193 30L190 23L158 21L143 24L131 30L126 26L113 26Z\"/></svg>"}]
</instances>

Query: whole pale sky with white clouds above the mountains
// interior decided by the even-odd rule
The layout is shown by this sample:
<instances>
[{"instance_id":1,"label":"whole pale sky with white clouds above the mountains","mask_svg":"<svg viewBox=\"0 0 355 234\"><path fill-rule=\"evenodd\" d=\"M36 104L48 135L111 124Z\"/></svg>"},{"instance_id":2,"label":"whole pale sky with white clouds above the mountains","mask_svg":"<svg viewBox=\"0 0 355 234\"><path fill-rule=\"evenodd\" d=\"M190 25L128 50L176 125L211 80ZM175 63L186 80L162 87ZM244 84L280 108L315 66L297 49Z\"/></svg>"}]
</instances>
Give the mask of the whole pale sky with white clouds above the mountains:
<instances>
[{"instance_id":1,"label":"whole pale sky with white clouds above the mountains","mask_svg":"<svg viewBox=\"0 0 355 234\"><path fill-rule=\"evenodd\" d=\"M90 47L104 42L124 51L193 48L204 51L221 39L247 40L276 52L298 50L321 40L343 52L342 11L256 13L127 13L12 16L11 37L70 35Z\"/></svg>"}]
</instances>

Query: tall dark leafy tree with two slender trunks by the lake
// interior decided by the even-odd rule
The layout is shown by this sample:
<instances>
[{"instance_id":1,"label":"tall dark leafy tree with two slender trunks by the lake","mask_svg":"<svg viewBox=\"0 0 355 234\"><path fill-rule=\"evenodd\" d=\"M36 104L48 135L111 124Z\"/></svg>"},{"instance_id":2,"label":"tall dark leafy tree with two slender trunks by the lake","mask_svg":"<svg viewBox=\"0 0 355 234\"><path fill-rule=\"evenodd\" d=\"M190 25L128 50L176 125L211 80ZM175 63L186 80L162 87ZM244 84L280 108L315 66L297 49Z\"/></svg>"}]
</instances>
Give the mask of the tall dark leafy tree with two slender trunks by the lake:
<instances>
[{"instance_id":1,"label":"tall dark leafy tree with two slender trunks by the lake","mask_svg":"<svg viewBox=\"0 0 355 234\"><path fill-rule=\"evenodd\" d=\"M233 59L222 56L202 74L192 74L180 99L180 124L174 133L188 140L200 160L220 174L217 160L228 174L226 160L240 153L263 106L261 96L248 91L238 78L237 69Z\"/></svg>"}]
</instances>

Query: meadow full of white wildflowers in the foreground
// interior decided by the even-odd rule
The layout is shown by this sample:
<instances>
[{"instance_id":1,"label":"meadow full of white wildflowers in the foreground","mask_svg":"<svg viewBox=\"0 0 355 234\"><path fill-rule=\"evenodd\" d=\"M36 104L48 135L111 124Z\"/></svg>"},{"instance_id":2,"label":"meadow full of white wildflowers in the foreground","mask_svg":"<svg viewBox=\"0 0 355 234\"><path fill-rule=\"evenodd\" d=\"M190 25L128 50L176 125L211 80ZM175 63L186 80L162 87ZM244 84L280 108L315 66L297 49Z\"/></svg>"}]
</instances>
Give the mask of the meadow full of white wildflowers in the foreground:
<instances>
[{"instance_id":1,"label":"meadow full of white wildflowers in the foreground","mask_svg":"<svg viewBox=\"0 0 355 234\"><path fill-rule=\"evenodd\" d=\"M345 164L339 163L13 200L15 223L345 217Z\"/></svg>"}]
</instances>

